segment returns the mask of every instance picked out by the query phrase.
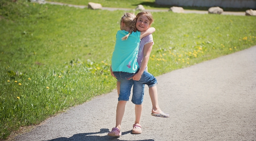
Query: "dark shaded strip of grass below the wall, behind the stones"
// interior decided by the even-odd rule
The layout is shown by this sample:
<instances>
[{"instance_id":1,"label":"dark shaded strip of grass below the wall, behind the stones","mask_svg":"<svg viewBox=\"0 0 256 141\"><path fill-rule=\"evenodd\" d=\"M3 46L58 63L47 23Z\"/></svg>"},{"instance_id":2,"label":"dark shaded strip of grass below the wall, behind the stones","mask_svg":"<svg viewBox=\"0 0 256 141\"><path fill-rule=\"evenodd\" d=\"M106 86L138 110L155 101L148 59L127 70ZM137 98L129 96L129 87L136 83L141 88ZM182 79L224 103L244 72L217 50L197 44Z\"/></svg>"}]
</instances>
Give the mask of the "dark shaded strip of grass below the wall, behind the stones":
<instances>
[{"instance_id":1,"label":"dark shaded strip of grass below the wall, behind the stones","mask_svg":"<svg viewBox=\"0 0 256 141\"><path fill-rule=\"evenodd\" d=\"M155 8L170 8L172 6L177 6L177 5L157 5L155 4L155 2L142 2L140 3L143 6L150 6L150 7L155 7ZM133 6L137 6L139 4L134 4ZM208 9L210 7L203 7L203 6L180 6L182 8L184 8L185 10L204 10L204 11L208 11ZM244 12L248 9L251 8L230 8L230 7L220 7L223 8L224 11L236 11L236 12Z\"/></svg>"}]
</instances>

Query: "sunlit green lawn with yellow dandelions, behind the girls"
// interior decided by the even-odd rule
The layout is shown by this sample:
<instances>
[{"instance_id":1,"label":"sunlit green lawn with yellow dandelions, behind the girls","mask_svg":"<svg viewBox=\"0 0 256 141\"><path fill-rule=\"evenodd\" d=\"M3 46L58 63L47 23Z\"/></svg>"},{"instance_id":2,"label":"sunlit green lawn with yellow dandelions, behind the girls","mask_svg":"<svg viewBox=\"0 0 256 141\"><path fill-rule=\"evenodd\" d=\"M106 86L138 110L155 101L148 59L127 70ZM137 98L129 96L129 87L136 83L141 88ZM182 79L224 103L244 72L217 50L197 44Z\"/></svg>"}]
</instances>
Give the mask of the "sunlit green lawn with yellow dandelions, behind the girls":
<instances>
[{"instance_id":1,"label":"sunlit green lawn with yellow dandelions, behind the girls","mask_svg":"<svg viewBox=\"0 0 256 141\"><path fill-rule=\"evenodd\" d=\"M0 140L115 88L109 67L123 11L27 4L0 20ZM158 76L256 45L256 18L154 12Z\"/></svg>"}]
</instances>

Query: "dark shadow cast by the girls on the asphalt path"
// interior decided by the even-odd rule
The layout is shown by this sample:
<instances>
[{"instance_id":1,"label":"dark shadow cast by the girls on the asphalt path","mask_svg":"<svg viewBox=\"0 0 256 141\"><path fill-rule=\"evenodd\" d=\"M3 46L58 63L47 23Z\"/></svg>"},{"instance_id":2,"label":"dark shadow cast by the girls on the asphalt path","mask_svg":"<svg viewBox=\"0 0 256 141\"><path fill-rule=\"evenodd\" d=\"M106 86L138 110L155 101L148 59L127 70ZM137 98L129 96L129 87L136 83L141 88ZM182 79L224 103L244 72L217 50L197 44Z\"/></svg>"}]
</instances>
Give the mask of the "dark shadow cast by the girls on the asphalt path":
<instances>
[{"instance_id":1,"label":"dark shadow cast by the girls on the asphalt path","mask_svg":"<svg viewBox=\"0 0 256 141\"><path fill-rule=\"evenodd\" d=\"M99 132L95 132L95 133L80 133L80 134L75 134L69 138L67 137L59 137L56 139L52 139L52 140L47 140L47 141L128 141L128 140L119 140L119 137L111 137L108 135L105 136L93 136L93 134L102 134L102 133L108 133L109 129L100 129ZM132 134L131 131L126 131L126 132L122 132L122 135L125 134ZM92 135L92 136L90 136ZM136 140L136 141L154 141L152 139L150 140Z\"/></svg>"}]
</instances>

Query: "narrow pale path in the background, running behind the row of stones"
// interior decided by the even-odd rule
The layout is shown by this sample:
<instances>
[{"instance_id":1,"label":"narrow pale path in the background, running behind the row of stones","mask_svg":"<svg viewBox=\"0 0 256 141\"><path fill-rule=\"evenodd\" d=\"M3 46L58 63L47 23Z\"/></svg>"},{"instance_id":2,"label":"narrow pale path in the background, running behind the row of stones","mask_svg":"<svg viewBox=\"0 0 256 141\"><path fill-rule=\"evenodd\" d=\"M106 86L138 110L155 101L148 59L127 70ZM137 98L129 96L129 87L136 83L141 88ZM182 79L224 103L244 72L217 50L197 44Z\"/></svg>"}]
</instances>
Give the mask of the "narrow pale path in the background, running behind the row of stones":
<instances>
[{"instance_id":1,"label":"narrow pale path in the background, running behind the row of stones","mask_svg":"<svg viewBox=\"0 0 256 141\"><path fill-rule=\"evenodd\" d=\"M60 2L49 2L46 1L48 4L55 4L55 5L67 5L69 7L78 7L78 8L87 8L87 5L72 5L72 4L63 4ZM130 8L113 8L113 7L102 7L102 10L109 10L109 11L114 11L114 10L123 10L123 11L132 11L133 9ZM168 12L168 10L154 10L154 9L148 9L146 11L149 12ZM184 13L197 13L197 14L208 14L208 11L203 11L203 10L184 10ZM231 12L231 11L224 11L222 13L223 15L236 15L236 16L245 16L245 12Z\"/></svg>"}]
</instances>

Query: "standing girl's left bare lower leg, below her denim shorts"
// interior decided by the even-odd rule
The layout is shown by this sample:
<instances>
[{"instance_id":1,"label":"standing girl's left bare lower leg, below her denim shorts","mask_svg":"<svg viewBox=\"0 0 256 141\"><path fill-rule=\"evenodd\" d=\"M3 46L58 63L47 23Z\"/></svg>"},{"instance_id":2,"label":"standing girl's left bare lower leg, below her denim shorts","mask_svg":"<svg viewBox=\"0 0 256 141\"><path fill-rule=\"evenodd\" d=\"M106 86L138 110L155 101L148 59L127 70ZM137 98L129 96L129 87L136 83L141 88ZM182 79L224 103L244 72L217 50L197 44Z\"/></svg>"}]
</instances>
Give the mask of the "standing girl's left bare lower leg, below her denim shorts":
<instances>
[{"instance_id":1,"label":"standing girl's left bare lower leg, below her denim shorts","mask_svg":"<svg viewBox=\"0 0 256 141\"><path fill-rule=\"evenodd\" d=\"M116 128L121 129L121 122L124 115L125 105L127 101L118 101L116 113Z\"/></svg>"}]
</instances>

